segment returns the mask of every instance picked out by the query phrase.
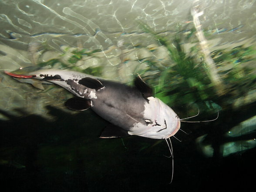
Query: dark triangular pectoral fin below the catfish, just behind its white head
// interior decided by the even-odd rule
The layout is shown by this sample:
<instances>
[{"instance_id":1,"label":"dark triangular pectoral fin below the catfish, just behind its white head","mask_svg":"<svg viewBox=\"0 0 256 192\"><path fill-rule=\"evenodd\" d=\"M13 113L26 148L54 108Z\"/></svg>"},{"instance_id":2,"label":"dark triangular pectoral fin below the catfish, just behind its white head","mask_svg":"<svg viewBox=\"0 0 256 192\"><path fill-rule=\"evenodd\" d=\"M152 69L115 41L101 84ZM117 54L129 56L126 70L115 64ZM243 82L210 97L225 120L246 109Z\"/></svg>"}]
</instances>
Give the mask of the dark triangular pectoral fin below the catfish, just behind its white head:
<instances>
[{"instance_id":1,"label":"dark triangular pectoral fin below the catfish, just behind its white head","mask_svg":"<svg viewBox=\"0 0 256 192\"><path fill-rule=\"evenodd\" d=\"M109 124L101 133L100 138L120 138L129 136L128 131L125 129Z\"/></svg>"}]
</instances>

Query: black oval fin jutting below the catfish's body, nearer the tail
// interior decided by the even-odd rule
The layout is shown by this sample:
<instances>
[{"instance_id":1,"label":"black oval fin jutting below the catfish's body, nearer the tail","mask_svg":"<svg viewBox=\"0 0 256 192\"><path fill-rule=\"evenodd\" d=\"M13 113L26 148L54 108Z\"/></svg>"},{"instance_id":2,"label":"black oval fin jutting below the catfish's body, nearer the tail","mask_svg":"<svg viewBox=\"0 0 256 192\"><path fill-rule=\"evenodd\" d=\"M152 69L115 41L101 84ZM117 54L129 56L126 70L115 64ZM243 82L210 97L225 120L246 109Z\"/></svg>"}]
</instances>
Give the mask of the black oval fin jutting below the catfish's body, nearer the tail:
<instances>
[{"instance_id":1,"label":"black oval fin jutting below the catfish's body, nearer the tail","mask_svg":"<svg viewBox=\"0 0 256 192\"><path fill-rule=\"evenodd\" d=\"M74 97L66 101L66 107L75 111L84 111L91 108L92 101L90 99Z\"/></svg>"}]
</instances>

